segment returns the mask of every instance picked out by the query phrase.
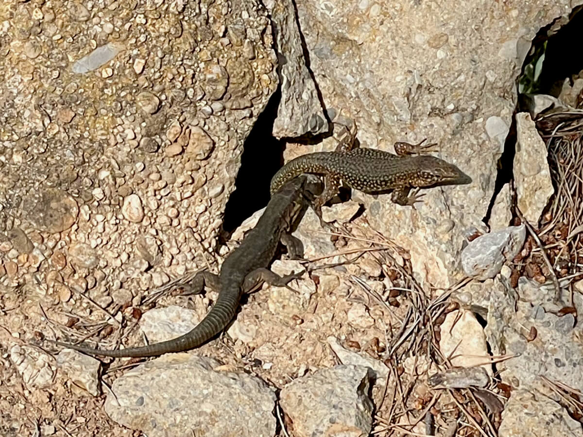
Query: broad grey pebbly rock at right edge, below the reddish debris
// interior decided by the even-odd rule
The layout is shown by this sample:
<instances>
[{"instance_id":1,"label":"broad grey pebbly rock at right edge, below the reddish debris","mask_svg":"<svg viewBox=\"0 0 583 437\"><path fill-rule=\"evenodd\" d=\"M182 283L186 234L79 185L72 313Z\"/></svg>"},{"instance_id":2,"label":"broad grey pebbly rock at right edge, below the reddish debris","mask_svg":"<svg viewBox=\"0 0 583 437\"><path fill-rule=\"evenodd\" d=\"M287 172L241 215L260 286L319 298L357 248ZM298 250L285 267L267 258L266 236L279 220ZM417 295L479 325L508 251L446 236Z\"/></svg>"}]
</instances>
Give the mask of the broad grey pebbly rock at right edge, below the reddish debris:
<instances>
[{"instance_id":1,"label":"broad grey pebbly rock at right edge, below the reddish debris","mask_svg":"<svg viewBox=\"0 0 583 437\"><path fill-rule=\"evenodd\" d=\"M512 357L496 364L504 382L531 389L544 377L583 392L583 326L575 325L571 313L557 315L560 306L552 302L552 287L521 279L519 290L518 300L508 285L490 293L488 343L492 354ZM577 313L583 311L580 294L573 294L573 305Z\"/></svg>"}]
</instances>

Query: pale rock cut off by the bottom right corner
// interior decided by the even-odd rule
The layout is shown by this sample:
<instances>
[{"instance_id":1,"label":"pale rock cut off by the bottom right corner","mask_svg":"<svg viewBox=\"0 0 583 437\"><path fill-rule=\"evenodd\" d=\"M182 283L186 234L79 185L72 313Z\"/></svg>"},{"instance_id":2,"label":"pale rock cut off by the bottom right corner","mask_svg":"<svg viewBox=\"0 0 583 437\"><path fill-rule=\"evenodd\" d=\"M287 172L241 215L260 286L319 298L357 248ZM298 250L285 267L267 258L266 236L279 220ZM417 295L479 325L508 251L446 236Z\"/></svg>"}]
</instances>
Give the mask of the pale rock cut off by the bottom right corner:
<instances>
[{"instance_id":1,"label":"pale rock cut off by the bottom right corner","mask_svg":"<svg viewBox=\"0 0 583 437\"><path fill-rule=\"evenodd\" d=\"M528 412L528 414L525 414ZM556 401L525 389L512 390L502 412L500 437L581 437L581 424Z\"/></svg>"}]
</instances>

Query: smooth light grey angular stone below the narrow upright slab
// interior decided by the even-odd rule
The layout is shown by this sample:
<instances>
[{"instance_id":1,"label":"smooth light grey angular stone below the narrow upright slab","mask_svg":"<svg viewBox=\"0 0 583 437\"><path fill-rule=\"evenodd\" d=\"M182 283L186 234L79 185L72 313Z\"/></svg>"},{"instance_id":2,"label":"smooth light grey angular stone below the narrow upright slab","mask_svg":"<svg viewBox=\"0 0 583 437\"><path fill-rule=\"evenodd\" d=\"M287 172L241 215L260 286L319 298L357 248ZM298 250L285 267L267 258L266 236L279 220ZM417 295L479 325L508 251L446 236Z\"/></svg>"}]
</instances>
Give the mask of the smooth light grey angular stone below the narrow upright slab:
<instances>
[{"instance_id":1,"label":"smooth light grey angular stone below the narrow upright slab","mask_svg":"<svg viewBox=\"0 0 583 437\"><path fill-rule=\"evenodd\" d=\"M477 280L493 278L505 262L520 251L526 238L524 224L490 232L473 241L462 251L463 271Z\"/></svg>"}]
</instances>

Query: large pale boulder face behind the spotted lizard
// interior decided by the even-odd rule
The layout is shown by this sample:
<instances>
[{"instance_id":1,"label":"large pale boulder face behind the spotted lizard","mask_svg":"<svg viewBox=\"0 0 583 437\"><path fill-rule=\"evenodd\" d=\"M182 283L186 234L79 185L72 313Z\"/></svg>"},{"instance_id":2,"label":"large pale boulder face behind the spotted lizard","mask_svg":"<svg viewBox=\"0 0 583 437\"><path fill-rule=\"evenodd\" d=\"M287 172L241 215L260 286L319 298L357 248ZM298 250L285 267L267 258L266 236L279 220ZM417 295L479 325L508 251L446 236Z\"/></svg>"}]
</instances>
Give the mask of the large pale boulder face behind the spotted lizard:
<instances>
[{"instance_id":1,"label":"large pale boulder face behind the spotted lizard","mask_svg":"<svg viewBox=\"0 0 583 437\"><path fill-rule=\"evenodd\" d=\"M523 2L296 4L322 100L329 114L356 119L361 146L429 138L472 177L469 187L428 190L417 210L359 196L371 225L410 249L419 279L447 286L461 274L463 239L484 231L531 40L574 5L543 0L533 14Z\"/></svg>"}]
</instances>

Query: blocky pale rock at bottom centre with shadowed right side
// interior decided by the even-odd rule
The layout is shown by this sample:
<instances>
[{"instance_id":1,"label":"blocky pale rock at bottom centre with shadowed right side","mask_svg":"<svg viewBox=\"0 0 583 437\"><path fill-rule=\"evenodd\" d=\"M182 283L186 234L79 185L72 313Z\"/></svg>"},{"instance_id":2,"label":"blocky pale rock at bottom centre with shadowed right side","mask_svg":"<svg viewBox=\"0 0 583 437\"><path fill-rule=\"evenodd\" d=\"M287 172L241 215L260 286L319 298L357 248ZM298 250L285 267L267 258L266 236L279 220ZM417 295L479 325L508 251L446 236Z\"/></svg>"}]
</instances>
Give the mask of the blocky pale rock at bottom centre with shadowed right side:
<instances>
[{"instance_id":1,"label":"blocky pale rock at bottom centre with shadowed right side","mask_svg":"<svg viewBox=\"0 0 583 437\"><path fill-rule=\"evenodd\" d=\"M283 387L280 404L293 422L293 435L368 436L373 424L369 372L366 367L338 365Z\"/></svg>"}]
</instances>

